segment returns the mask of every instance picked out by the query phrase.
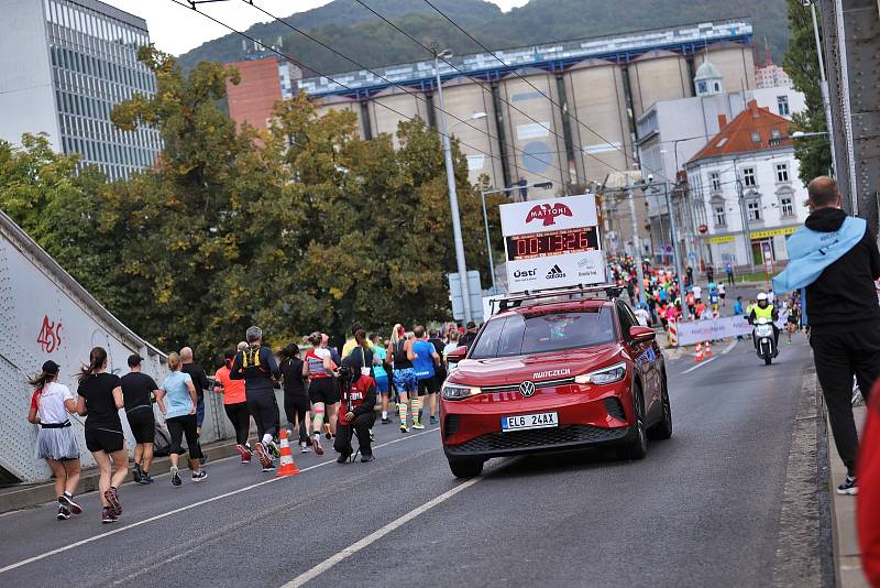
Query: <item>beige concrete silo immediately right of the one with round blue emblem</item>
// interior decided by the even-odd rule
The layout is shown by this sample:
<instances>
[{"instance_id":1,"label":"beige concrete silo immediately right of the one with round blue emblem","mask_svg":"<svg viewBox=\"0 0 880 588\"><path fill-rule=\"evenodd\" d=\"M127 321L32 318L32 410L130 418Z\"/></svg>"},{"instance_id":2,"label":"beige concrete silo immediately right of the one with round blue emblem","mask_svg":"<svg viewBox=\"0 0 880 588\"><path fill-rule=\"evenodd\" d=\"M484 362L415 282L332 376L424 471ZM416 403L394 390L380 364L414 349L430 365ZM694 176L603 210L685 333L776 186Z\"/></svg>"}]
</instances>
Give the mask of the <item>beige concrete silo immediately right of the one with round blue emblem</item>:
<instances>
[{"instance_id":1,"label":"beige concrete silo immediately right of the one with round blue emblem","mask_svg":"<svg viewBox=\"0 0 880 588\"><path fill-rule=\"evenodd\" d=\"M602 182L632 163L623 72L603 59L581 62L564 74L569 129L578 182ZM625 154L626 153L626 154Z\"/></svg>"}]
</instances>

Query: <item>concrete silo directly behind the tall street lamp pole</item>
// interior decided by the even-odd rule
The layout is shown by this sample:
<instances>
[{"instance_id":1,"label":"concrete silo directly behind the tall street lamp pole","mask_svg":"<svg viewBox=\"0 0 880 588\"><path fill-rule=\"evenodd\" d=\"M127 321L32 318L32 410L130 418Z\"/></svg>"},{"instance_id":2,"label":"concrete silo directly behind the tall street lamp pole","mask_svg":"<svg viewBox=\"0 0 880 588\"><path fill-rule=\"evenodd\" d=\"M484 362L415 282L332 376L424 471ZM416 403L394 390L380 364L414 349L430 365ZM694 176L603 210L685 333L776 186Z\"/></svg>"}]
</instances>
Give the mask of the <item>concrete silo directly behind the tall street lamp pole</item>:
<instances>
[{"instance_id":1,"label":"concrete silo directly behind the tall street lamp pole","mask_svg":"<svg viewBox=\"0 0 880 588\"><path fill-rule=\"evenodd\" d=\"M485 174L491 186L504 187L492 88L487 83L459 76L443 81L443 102L449 133L461 141L461 151L468 157L471 183L476 184ZM433 107L437 128L442 129L440 101L436 96Z\"/></svg>"}]
</instances>

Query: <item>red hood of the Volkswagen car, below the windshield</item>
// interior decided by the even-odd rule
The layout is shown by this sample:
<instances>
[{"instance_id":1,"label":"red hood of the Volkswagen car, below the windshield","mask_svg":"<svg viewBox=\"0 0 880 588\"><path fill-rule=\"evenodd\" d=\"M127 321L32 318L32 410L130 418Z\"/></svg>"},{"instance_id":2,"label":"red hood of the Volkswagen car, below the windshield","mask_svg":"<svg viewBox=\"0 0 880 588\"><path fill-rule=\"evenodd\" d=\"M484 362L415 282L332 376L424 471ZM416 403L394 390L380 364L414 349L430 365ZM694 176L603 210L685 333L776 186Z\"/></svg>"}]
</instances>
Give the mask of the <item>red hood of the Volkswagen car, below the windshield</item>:
<instances>
[{"instance_id":1,"label":"red hood of the Volkswagen car, below the windshield","mask_svg":"<svg viewBox=\"0 0 880 588\"><path fill-rule=\"evenodd\" d=\"M616 342L527 356L465 359L449 374L452 383L496 386L525 380L557 380L603 368L620 356Z\"/></svg>"}]
</instances>

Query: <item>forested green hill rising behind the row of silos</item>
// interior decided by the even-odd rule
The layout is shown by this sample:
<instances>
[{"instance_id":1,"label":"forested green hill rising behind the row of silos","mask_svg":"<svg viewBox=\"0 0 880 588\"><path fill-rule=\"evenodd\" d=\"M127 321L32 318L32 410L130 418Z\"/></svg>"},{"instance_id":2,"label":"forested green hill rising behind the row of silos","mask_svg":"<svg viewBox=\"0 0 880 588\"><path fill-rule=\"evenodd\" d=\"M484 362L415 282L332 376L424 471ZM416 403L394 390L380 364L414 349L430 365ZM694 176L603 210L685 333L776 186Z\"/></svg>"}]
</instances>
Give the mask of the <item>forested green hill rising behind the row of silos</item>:
<instances>
[{"instance_id":1,"label":"forested green hill rising behind the row of silos","mask_svg":"<svg viewBox=\"0 0 880 588\"><path fill-rule=\"evenodd\" d=\"M480 46L422 0L364 0L376 12L422 41L457 54ZM755 39L766 37L773 58L782 61L788 44L787 0L530 0L503 13L483 0L432 0L432 3L490 48L516 47L570 39L675 24L751 19ZM278 14L280 17L280 14ZM355 0L333 0L321 8L285 15L285 20L367 67L425 59L426 51L381 21ZM295 33L279 22L256 24L248 34L266 44L282 37L283 51L315 70L333 74L359 69L351 62ZM242 37L229 34L180 56L185 68L200 61L229 62L244 56ZM314 72L306 70L309 77Z\"/></svg>"}]
</instances>

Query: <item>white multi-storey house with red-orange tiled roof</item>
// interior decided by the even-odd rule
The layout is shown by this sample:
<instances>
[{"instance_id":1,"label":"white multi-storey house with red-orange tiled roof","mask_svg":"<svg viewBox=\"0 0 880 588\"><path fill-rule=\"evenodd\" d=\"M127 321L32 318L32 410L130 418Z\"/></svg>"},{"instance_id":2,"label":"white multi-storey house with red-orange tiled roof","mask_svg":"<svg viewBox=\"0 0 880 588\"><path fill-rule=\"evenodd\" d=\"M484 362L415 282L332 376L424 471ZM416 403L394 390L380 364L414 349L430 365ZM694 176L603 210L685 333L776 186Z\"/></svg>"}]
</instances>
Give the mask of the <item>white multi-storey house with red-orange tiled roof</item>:
<instances>
[{"instance_id":1,"label":"white multi-storey house with red-orange tiled roof","mask_svg":"<svg viewBox=\"0 0 880 588\"><path fill-rule=\"evenodd\" d=\"M698 253L716 268L787 260L785 237L809 215L790 122L750 100L721 123L685 167Z\"/></svg>"}]
</instances>

